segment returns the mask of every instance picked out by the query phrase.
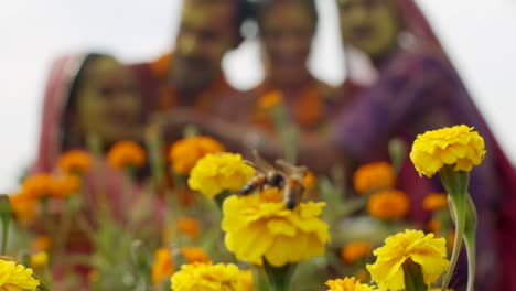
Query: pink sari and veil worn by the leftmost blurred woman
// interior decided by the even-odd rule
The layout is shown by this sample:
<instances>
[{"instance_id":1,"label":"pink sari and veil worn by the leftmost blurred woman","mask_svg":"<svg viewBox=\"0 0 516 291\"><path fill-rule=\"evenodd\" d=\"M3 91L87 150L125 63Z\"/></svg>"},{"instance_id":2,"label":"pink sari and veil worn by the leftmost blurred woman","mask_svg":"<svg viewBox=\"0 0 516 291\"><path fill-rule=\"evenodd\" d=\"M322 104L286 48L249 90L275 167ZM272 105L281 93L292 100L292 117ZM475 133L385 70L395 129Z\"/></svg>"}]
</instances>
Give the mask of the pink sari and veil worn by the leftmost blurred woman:
<instances>
[{"instance_id":1,"label":"pink sari and veil worn by the leftmost blurred woman","mask_svg":"<svg viewBox=\"0 0 516 291\"><path fill-rule=\"evenodd\" d=\"M60 154L69 149L64 149L63 136L67 134L64 131L63 125L68 122L67 104L71 95L72 84L77 78L77 73L84 65L87 55L67 55L55 60L52 64L49 80L45 89L42 112L42 128L40 144L36 161L32 168L32 173L52 173L56 171ZM78 149L86 150L85 144ZM110 166L99 157L90 157L93 160L89 171L84 176L83 184L83 211L87 220L95 227L99 222L99 206L105 205L111 218L125 224L129 219L131 207L121 205L121 202L127 201L125 197L127 191L130 190L129 204L138 203L143 196L141 187L127 181L123 174ZM152 211L152 222L161 229L164 219L164 203L151 198L150 207ZM55 209L60 216L58 207ZM39 228L35 226L35 228ZM93 244L83 235L69 237L69 244L66 246L66 251L69 254L90 254ZM57 266L58 263L56 263ZM58 267L58 266L57 266ZM77 271L84 276L89 269L87 267L77 266ZM54 269L54 277L58 280L62 277L61 268ZM86 277L83 278L86 283Z\"/></svg>"}]
</instances>

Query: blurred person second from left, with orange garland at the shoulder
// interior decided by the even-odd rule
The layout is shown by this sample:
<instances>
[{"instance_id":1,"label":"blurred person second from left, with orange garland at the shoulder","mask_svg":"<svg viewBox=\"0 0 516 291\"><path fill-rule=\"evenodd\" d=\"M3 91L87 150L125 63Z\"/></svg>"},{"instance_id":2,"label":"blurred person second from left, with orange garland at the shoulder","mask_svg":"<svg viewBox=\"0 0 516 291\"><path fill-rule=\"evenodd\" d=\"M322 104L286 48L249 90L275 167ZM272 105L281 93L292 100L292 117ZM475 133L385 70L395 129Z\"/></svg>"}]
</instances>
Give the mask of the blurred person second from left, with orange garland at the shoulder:
<instances>
[{"instance_id":1,"label":"blurred person second from left, with orange garland at the shoulder","mask_svg":"<svg viewBox=\"0 0 516 291\"><path fill-rule=\"evenodd\" d=\"M158 60L135 64L149 111L181 107L213 111L217 99L237 94L226 80L223 56L243 41L245 0L184 0L175 47Z\"/></svg>"}]
</instances>

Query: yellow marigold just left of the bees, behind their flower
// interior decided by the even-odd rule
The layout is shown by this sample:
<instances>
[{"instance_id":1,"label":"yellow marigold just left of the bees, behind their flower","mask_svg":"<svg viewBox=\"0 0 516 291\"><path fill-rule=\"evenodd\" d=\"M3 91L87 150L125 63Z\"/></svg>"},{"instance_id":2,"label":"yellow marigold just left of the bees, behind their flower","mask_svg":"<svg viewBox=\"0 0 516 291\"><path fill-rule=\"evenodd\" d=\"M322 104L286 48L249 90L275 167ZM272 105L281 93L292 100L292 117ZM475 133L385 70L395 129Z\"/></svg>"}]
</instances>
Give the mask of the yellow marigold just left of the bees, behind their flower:
<instances>
[{"instance_id":1,"label":"yellow marigold just left of the bees, behind their flower","mask_svg":"<svg viewBox=\"0 0 516 291\"><path fill-rule=\"evenodd\" d=\"M240 154L208 153L195 164L189 185L208 197L215 197L223 191L240 190L254 175L255 169Z\"/></svg>"}]
</instances>

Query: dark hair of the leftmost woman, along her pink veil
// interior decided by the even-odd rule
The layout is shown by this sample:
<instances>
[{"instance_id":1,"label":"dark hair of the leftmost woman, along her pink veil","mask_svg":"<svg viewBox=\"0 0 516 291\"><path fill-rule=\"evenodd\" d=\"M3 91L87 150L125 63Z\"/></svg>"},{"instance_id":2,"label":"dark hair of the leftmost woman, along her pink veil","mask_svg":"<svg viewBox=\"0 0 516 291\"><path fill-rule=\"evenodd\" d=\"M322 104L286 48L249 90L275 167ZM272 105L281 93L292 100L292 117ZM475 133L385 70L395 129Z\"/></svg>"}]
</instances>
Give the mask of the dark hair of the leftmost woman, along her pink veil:
<instances>
[{"instance_id":1,"label":"dark hair of the leftmost woman, along her pink veil","mask_svg":"<svg viewBox=\"0 0 516 291\"><path fill-rule=\"evenodd\" d=\"M61 121L61 147L62 149L69 149L73 146L76 144L71 144L73 141L71 140L69 137L69 130L71 127L73 126L69 120L67 120L68 112L76 110L77 108L77 96L80 90L80 88L84 85L84 79L85 79L85 74L87 71L87 67L94 63L95 61L103 58L103 57L112 57L109 54L106 53L88 53L86 56L84 56L83 62L78 65L78 68L75 73L75 76L71 80L69 84L69 89L67 93L67 97L65 100L65 104L63 106L63 111L62 111L62 121Z\"/></svg>"}]
</instances>

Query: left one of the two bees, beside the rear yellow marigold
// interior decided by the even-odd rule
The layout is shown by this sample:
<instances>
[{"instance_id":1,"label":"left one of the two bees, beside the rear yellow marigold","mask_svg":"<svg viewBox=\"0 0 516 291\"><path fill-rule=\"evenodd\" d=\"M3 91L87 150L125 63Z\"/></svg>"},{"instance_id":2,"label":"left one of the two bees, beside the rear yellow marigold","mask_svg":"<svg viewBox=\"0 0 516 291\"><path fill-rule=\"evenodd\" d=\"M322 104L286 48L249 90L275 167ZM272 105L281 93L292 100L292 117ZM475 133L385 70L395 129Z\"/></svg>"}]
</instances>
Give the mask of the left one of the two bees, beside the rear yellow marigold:
<instances>
[{"instance_id":1,"label":"left one of the two bees, beside the rear yellow marigold","mask_svg":"<svg viewBox=\"0 0 516 291\"><path fill-rule=\"evenodd\" d=\"M282 188L284 185L284 175L273 165L260 157L257 150L252 151L255 163L246 161L255 168L257 174L249 180L239 191L240 195L249 195L257 191L262 191L266 186Z\"/></svg>"}]
</instances>

